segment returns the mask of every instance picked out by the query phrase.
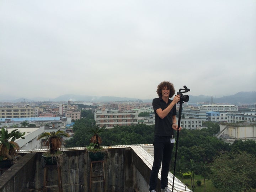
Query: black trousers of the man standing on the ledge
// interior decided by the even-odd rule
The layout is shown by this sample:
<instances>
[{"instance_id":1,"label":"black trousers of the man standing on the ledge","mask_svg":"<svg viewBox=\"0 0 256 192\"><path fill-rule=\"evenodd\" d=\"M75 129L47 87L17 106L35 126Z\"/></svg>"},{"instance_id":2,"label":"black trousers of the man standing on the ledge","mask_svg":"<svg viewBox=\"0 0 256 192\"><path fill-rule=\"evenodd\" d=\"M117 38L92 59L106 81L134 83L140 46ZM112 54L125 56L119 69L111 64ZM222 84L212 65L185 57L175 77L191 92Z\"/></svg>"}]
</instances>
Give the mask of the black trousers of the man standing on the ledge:
<instances>
[{"instance_id":1,"label":"black trousers of the man standing on the ledge","mask_svg":"<svg viewBox=\"0 0 256 192\"><path fill-rule=\"evenodd\" d=\"M154 162L150 175L149 191L156 189L161 163L161 188L164 189L168 185L167 177L170 169L172 150L174 148L174 143L170 142L171 138L172 136L155 135L154 137Z\"/></svg>"}]
</instances>

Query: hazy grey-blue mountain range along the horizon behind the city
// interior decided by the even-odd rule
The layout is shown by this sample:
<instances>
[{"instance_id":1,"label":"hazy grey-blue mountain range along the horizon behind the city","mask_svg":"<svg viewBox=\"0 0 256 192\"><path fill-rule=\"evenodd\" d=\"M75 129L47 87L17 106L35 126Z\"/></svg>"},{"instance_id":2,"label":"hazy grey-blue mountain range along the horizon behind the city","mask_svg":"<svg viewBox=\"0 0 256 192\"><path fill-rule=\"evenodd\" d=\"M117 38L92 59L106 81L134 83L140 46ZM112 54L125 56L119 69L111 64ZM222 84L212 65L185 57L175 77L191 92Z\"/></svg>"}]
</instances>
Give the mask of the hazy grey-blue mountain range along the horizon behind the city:
<instances>
[{"instance_id":1,"label":"hazy grey-blue mountain range along the horizon behind the city","mask_svg":"<svg viewBox=\"0 0 256 192\"><path fill-rule=\"evenodd\" d=\"M197 103L197 102L211 102L210 96L205 95L189 95L190 100L188 103ZM8 98L8 99L6 99ZM153 99L153 98L152 98ZM111 96L86 96L86 95L73 95L73 94L66 94L61 95L56 98L43 98L43 97L36 97L32 99L28 98L15 98L10 95L1 95L0 94L0 102L35 102L35 101L85 101L85 102L114 102L114 101L143 101L143 102L152 102L152 99L142 100L139 98L129 98L129 97L111 97ZM248 91L248 92L238 92L235 95L224 96L224 97L213 97L213 103L230 103L230 104L253 104L256 103L256 91Z\"/></svg>"}]
</instances>

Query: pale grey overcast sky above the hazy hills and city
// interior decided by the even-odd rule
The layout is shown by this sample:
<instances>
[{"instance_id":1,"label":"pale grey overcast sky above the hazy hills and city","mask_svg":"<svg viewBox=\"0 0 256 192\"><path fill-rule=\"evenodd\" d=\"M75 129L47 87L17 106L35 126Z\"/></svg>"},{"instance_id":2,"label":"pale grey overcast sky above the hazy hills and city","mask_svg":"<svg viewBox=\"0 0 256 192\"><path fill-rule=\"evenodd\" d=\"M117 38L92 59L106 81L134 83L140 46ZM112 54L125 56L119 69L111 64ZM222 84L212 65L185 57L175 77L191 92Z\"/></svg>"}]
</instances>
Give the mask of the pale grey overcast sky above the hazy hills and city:
<instances>
[{"instance_id":1,"label":"pale grey overcast sky above the hazy hills and city","mask_svg":"<svg viewBox=\"0 0 256 192\"><path fill-rule=\"evenodd\" d=\"M255 0L0 1L0 95L256 91Z\"/></svg>"}]
</instances>

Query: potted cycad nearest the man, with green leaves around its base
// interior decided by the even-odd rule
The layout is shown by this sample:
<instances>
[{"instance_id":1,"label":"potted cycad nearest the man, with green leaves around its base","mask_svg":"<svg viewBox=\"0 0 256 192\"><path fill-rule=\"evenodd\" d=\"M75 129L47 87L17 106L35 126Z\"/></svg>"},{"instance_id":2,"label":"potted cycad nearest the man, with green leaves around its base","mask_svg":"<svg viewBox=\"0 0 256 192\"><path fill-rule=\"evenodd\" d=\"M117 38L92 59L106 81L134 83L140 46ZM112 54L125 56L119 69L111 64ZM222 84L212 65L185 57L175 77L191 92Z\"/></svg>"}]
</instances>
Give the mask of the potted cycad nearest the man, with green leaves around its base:
<instances>
[{"instance_id":1,"label":"potted cycad nearest the man, with green leaves around its base","mask_svg":"<svg viewBox=\"0 0 256 192\"><path fill-rule=\"evenodd\" d=\"M90 130L90 132L93 133L93 136L90 139L90 145L87 147L87 151L91 161L103 160L105 154L107 153L107 149L100 146L102 139L98 133L102 131L103 129L100 129L99 127Z\"/></svg>"}]
</instances>

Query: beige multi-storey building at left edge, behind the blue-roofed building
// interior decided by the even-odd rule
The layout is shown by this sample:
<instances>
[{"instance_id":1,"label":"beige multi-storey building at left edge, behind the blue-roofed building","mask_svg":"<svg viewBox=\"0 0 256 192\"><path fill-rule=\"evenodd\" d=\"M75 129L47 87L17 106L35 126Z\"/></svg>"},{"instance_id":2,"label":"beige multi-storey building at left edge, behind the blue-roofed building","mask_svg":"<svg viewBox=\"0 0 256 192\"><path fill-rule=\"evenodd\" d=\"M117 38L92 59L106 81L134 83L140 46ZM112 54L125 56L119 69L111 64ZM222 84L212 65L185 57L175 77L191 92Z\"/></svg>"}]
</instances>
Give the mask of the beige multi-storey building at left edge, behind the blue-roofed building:
<instances>
[{"instance_id":1,"label":"beige multi-storey building at left edge, behind the blue-roofed building","mask_svg":"<svg viewBox=\"0 0 256 192\"><path fill-rule=\"evenodd\" d=\"M0 118L33 117L34 109L31 106L8 106L0 108Z\"/></svg>"}]
</instances>

